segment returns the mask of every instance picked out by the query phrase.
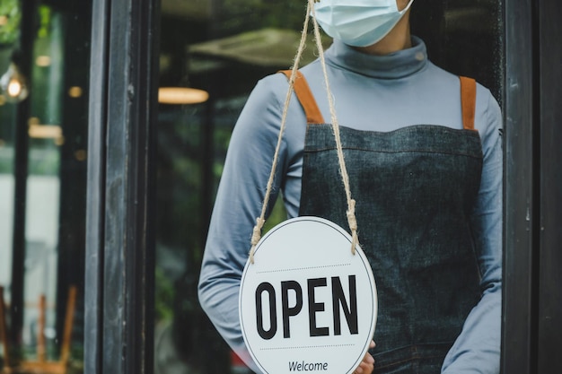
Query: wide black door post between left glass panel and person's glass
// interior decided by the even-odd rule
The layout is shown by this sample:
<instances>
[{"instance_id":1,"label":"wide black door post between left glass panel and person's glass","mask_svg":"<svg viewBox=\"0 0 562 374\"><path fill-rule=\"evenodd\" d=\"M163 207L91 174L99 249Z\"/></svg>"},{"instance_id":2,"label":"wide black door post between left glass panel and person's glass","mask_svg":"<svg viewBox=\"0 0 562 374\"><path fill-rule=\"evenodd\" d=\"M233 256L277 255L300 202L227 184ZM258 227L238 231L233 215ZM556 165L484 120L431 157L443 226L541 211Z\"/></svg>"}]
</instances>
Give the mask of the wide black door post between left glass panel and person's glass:
<instances>
[{"instance_id":1,"label":"wide black door post between left glass panel and person's glass","mask_svg":"<svg viewBox=\"0 0 562 374\"><path fill-rule=\"evenodd\" d=\"M96 0L85 287L85 372L153 368L157 0Z\"/></svg>"}]
</instances>

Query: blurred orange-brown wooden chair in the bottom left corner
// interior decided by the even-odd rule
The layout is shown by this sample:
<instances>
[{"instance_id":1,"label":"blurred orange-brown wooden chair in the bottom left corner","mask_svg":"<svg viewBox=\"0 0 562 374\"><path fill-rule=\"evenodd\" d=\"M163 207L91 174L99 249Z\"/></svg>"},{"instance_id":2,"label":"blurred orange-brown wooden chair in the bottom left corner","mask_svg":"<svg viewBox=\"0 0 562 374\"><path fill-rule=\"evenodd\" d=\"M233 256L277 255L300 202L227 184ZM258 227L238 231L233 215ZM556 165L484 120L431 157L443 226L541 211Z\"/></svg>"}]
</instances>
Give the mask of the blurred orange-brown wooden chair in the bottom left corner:
<instances>
[{"instance_id":1,"label":"blurred orange-brown wooden chair in the bottom left corner","mask_svg":"<svg viewBox=\"0 0 562 374\"><path fill-rule=\"evenodd\" d=\"M45 336L43 335L45 330L46 300L45 296L41 295L37 360L22 360L14 363L10 358L9 342L6 331L4 289L0 287L0 339L2 339L2 345L4 347L4 368L1 372L2 374L66 374L68 371L68 362L70 361L70 343L75 318L76 292L76 286L71 286L68 291L68 299L66 301L65 332L63 335L59 360L46 360Z\"/></svg>"}]
</instances>

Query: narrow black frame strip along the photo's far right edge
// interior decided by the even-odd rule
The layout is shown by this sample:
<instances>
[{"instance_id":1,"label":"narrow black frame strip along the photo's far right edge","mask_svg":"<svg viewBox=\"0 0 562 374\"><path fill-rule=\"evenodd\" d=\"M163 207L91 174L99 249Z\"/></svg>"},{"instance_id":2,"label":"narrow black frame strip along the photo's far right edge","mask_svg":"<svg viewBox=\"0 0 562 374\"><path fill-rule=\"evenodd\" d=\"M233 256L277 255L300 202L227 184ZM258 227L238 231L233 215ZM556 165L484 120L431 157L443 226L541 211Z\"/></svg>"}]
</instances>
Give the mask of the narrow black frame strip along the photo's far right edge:
<instances>
[{"instance_id":1,"label":"narrow black frame strip along the photo's far right edge","mask_svg":"<svg viewBox=\"0 0 562 374\"><path fill-rule=\"evenodd\" d=\"M538 373L561 373L562 345L562 5L539 1L538 112L540 115L540 239L538 261Z\"/></svg>"}]
</instances>

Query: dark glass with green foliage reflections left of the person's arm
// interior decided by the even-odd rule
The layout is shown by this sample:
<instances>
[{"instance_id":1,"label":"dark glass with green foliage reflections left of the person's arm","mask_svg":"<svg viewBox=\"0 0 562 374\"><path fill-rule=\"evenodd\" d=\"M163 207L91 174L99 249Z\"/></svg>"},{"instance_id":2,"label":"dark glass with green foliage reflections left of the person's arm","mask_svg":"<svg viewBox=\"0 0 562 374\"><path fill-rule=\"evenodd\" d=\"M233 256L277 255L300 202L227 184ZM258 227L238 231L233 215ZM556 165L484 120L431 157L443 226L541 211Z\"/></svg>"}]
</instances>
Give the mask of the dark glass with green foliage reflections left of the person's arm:
<instances>
[{"instance_id":1,"label":"dark glass with green foliage reflections left of the person's arm","mask_svg":"<svg viewBox=\"0 0 562 374\"><path fill-rule=\"evenodd\" d=\"M199 307L199 265L233 125L259 78L292 64L303 4L162 1L160 86L208 98L159 107L156 374L249 372Z\"/></svg>"}]
</instances>

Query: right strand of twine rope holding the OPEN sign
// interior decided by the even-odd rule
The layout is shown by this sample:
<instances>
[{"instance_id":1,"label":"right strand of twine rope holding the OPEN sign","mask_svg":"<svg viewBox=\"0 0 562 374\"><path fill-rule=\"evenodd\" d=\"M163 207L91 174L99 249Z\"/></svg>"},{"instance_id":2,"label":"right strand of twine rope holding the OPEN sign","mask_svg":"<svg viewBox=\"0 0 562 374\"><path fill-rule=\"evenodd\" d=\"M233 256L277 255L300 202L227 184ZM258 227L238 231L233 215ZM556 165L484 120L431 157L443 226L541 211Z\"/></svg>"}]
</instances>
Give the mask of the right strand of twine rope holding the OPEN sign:
<instances>
[{"instance_id":1,"label":"right strand of twine rope holding the OPEN sign","mask_svg":"<svg viewBox=\"0 0 562 374\"><path fill-rule=\"evenodd\" d=\"M324 73L324 84L326 85L326 91L328 92L328 102L329 102L329 114L331 116L332 129L334 132L334 138L336 140L336 148L338 151L338 162L339 162L339 173L341 174L342 181L346 190L347 197L347 223L349 224L349 230L351 230L351 253L356 254L356 246L359 245L359 239L357 237L357 220L356 220L356 201L351 198L351 189L349 187L349 176L347 175L346 162L344 160L344 152L341 146L341 138L339 136L339 124L338 118L336 117L336 109L334 106L334 97L329 88L328 72L326 69L326 61L324 59L324 49L321 43L321 34L318 22L316 22L316 17L314 16L313 1L309 0L309 7L312 4L312 23L314 25L314 39L316 40L316 46L319 51L319 57L321 60L322 71Z\"/></svg>"}]
</instances>

